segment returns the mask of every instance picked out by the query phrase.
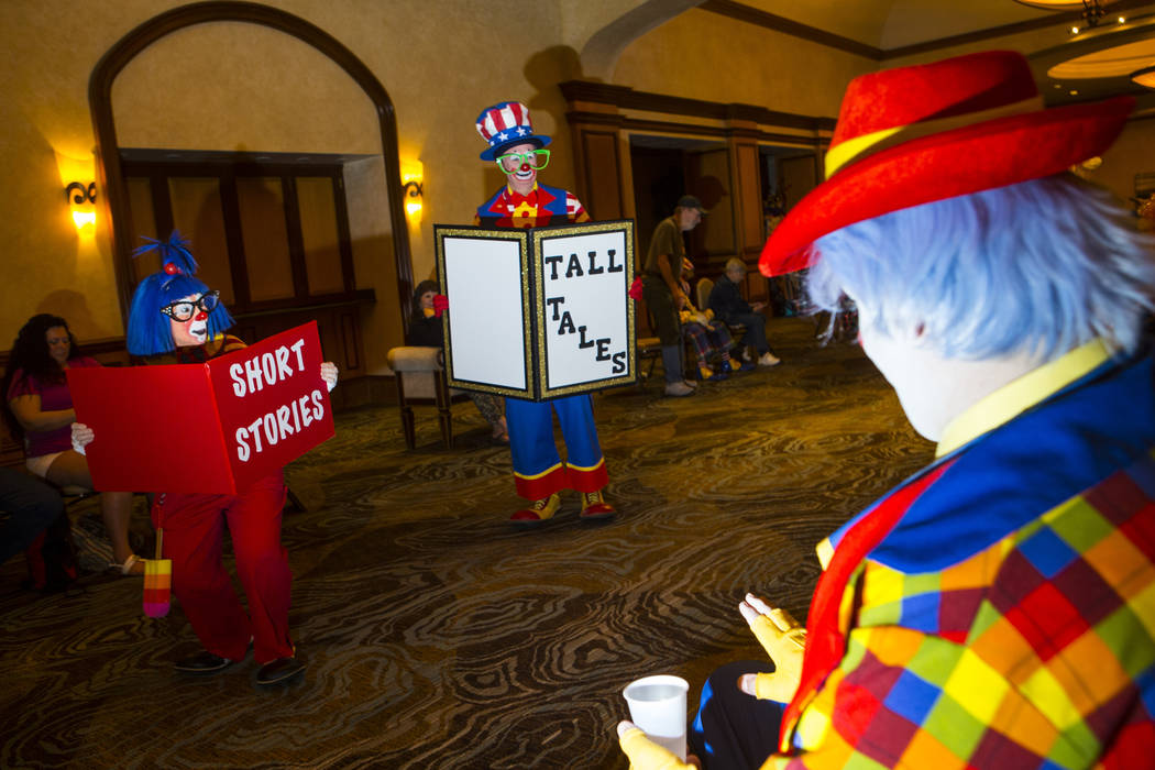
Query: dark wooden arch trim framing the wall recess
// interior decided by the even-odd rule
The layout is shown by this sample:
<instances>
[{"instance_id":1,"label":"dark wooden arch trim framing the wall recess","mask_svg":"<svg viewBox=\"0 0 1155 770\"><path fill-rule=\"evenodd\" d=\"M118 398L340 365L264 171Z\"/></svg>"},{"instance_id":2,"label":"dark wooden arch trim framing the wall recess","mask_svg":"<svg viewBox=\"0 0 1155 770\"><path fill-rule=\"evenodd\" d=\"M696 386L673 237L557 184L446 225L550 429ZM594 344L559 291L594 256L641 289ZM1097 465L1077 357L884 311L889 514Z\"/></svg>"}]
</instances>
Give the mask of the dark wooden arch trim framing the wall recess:
<instances>
[{"instance_id":1,"label":"dark wooden arch trim framing the wall recess","mask_svg":"<svg viewBox=\"0 0 1155 770\"><path fill-rule=\"evenodd\" d=\"M97 173L105 192L103 199L109 222L112 223L112 259L121 316L127 322L133 283L131 264L133 234L128 232L128 190L119 163L120 148L112 109L112 84L117 75L152 43L186 27L209 22L260 24L291 35L333 60L372 102L381 134L381 157L385 166L385 186L388 190L388 211L397 275L397 306L404 317L411 301L412 263L409 231L400 194L397 124L388 92L352 51L321 28L268 6L221 0L180 6L146 21L109 48L89 79L89 107L97 140Z\"/></svg>"}]
</instances>

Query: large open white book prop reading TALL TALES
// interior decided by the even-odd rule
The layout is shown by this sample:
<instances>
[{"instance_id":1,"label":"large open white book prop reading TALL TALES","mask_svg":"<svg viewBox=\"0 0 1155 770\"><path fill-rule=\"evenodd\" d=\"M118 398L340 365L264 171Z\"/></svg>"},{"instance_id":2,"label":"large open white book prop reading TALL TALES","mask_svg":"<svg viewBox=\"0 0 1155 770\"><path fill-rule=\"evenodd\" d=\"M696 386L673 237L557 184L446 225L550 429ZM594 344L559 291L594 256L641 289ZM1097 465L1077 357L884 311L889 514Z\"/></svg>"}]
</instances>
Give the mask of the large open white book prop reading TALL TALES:
<instances>
[{"instance_id":1,"label":"large open white book prop reading TALL TALES","mask_svg":"<svg viewBox=\"0 0 1155 770\"><path fill-rule=\"evenodd\" d=\"M636 381L632 220L433 232L449 387L544 401Z\"/></svg>"}]
</instances>

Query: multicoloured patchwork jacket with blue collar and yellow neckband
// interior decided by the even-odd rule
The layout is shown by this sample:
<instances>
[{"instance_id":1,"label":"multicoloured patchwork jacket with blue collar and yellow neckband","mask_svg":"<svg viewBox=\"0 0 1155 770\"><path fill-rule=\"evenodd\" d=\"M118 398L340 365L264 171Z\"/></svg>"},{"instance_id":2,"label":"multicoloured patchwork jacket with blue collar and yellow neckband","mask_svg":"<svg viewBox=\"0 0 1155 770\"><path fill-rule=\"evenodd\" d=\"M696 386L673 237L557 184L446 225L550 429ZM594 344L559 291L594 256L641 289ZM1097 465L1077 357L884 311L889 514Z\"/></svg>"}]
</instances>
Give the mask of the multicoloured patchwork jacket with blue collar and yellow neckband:
<instances>
[{"instance_id":1,"label":"multicoloured patchwork jacket with blue collar and yellow neckband","mask_svg":"<svg viewBox=\"0 0 1155 770\"><path fill-rule=\"evenodd\" d=\"M1153 376L1036 369L820 547L765 768L1155 767Z\"/></svg>"}]
</instances>

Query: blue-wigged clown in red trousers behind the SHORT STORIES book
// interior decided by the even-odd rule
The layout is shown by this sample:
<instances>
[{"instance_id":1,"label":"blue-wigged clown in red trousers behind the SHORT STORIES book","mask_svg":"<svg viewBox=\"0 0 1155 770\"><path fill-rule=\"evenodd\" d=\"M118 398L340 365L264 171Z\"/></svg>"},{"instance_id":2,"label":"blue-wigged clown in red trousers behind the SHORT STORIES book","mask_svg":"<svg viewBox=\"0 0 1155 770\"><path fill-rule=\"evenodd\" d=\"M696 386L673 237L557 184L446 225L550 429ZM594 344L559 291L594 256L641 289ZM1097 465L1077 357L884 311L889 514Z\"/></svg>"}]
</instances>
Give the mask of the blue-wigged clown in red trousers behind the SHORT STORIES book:
<instances>
[{"instance_id":1,"label":"blue-wigged clown in red trousers behind the SHORT STORIES book","mask_svg":"<svg viewBox=\"0 0 1155 770\"><path fill-rule=\"evenodd\" d=\"M196 262L187 246L174 232L169 241L154 241L136 252L139 255L155 249L162 264L161 271L136 287L128 316L128 352L148 357L150 364L199 364L245 347L240 339L224 334L232 317L221 305L218 292L195 277ZM321 376L331 390L337 382L336 367L322 364ZM79 450L95 438L91 428L73 426L73 443ZM176 439L174 449L179 436ZM173 462L195 458L182 457L176 450ZM243 659L251 645L261 664L259 685L286 681L305 670L289 634L292 574L281 545L284 501L282 471L236 495L156 495L152 524L164 530L164 558L172 560L172 591L204 648L177 661L177 671L224 671ZM247 613L221 563L225 524L248 601Z\"/></svg>"}]
</instances>

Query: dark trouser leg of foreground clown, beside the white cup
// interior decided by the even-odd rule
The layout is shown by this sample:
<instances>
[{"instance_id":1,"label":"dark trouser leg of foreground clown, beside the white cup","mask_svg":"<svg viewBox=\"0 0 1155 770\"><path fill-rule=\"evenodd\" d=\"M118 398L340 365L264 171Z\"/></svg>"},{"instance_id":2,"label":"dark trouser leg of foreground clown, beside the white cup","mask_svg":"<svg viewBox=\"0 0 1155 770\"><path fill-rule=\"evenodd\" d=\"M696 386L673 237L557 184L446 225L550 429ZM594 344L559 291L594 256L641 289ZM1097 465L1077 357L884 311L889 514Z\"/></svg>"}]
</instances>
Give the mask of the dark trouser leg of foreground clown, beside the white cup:
<instances>
[{"instance_id":1,"label":"dark trouser leg of foreground clown, beside the white cup","mask_svg":"<svg viewBox=\"0 0 1155 770\"><path fill-rule=\"evenodd\" d=\"M743 674L773 671L769 661L739 660L717 668L702 685L686 740L703 770L757 769L777 752L785 704L759 701L738 689Z\"/></svg>"}]
</instances>

